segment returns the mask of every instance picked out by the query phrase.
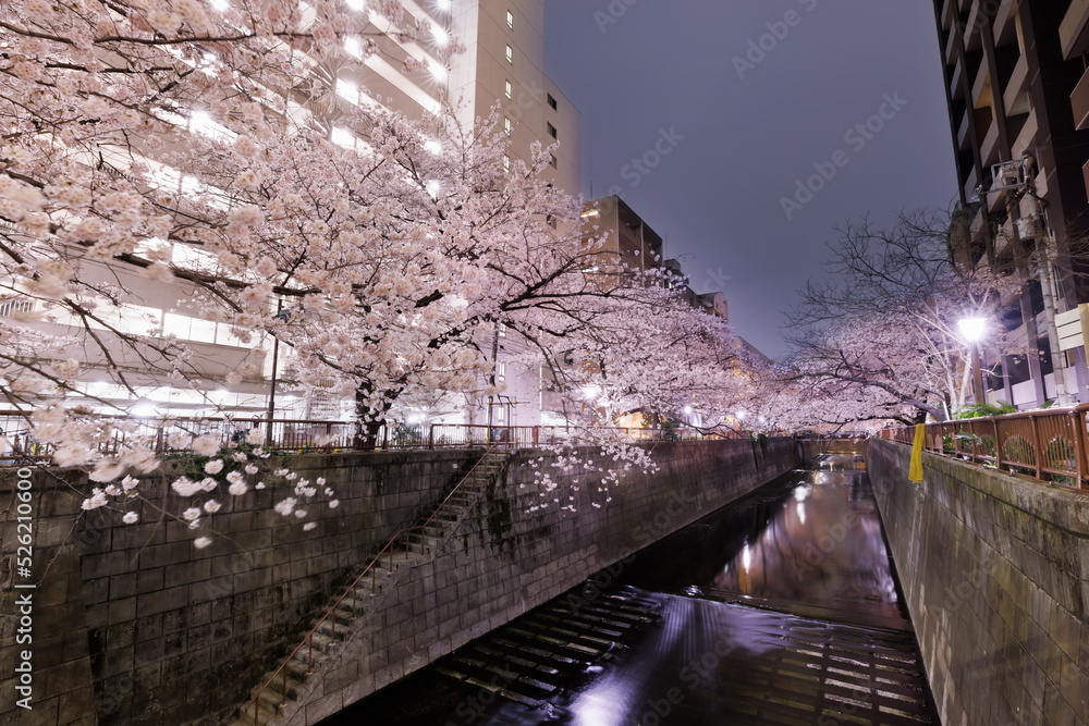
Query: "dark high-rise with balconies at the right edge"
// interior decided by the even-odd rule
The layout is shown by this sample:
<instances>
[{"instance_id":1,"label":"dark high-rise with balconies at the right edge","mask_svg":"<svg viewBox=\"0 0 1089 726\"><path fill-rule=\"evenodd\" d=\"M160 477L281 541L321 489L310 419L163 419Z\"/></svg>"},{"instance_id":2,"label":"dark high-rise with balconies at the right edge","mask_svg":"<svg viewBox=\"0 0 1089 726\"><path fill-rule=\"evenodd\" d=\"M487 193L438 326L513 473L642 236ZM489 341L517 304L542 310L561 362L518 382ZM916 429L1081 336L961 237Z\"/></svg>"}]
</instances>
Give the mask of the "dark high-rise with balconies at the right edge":
<instances>
[{"instance_id":1,"label":"dark high-rise with balconies at the right edge","mask_svg":"<svg viewBox=\"0 0 1089 726\"><path fill-rule=\"evenodd\" d=\"M1029 261L1040 269L1006 300L1015 353L1000 358L984 347L991 397L1032 407L1059 398L1065 383L1075 401L1089 399L1085 349L1062 349L1054 325L1056 313L1089 300L1078 259L1089 231L1089 4L934 0L934 13L968 211L965 255L1004 270Z\"/></svg>"}]
</instances>

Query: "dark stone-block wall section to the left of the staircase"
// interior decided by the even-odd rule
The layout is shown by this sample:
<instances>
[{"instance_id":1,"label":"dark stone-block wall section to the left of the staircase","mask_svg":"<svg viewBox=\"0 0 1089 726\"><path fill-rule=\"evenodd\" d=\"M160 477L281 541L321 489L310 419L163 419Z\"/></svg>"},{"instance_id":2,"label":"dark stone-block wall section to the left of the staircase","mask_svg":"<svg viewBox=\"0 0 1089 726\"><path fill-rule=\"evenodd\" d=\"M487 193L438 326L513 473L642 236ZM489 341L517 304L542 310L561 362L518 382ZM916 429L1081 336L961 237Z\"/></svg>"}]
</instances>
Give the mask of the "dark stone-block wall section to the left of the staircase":
<instances>
[{"instance_id":1,"label":"dark stone-block wall section to the left of the staircase","mask_svg":"<svg viewBox=\"0 0 1089 726\"><path fill-rule=\"evenodd\" d=\"M340 499L320 525L276 514L285 487L227 502L209 522L213 543L160 517L183 500L172 476L146 478L151 506L140 524L114 512L76 521L89 484L78 471L36 471L33 503L33 710L15 702L16 599L0 590L0 721L21 724L181 724L233 703L259 679L307 618L360 559L440 492L479 452L306 455L286 464L301 477L326 477ZM278 460L276 466L279 466ZM16 553L15 472L0 471L0 519L10 568ZM199 532L198 532L199 533ZM94 688L91 689L91 684ZM97 717L97 719L96 719Z\"/></svg>"}]
</instances>

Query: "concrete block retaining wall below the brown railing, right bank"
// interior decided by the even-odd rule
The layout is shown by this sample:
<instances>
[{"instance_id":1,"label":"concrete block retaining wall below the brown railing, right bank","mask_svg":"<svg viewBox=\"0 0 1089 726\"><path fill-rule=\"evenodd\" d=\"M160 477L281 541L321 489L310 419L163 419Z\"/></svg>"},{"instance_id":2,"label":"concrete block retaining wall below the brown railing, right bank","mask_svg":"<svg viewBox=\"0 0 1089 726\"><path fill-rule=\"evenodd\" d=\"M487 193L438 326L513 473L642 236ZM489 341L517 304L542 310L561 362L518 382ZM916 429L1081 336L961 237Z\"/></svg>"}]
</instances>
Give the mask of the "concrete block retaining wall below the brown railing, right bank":
<instances>
[{"instance_id":1,"label":"concrete block retaining wall below the brown railing, right bank","mask_svg":"<svg viewBox=\"0 0 1089 726\"><path fill-rule=\"evenodd\" d=\"M942 722L1089 723L1089 494L909 457L867 458Z\"/></svg>"}]
</instances>

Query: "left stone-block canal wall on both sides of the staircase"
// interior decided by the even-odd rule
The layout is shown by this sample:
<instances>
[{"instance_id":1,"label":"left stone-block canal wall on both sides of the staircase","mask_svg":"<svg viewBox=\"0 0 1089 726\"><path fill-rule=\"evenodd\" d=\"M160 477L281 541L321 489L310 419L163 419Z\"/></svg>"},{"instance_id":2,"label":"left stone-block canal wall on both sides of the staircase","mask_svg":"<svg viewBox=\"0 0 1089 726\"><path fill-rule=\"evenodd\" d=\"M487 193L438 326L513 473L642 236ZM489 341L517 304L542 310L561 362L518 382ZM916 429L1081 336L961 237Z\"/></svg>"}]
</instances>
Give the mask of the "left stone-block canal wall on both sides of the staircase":
<instances>
[{"instance_id":1,"label":"left stone-block canal wall on both sides of the staircase","mask_svg":"<svg viewBox=\"0 0 1089 726\"><path fill-rule=\"evenodd\" d=\"M437 558L402 578L389 613L335 682L311 692L301 713L316 723L342 705L421 667L574 587L634 550L797 466L807 445L790 440L658 445L659 471L622 470L584 451L594 466L554 468L555 454L524 451L510 462ZM0 719L27 724L191 723L222 716L310 618L389 537L414 524L479 452L291 457L304 478L328 480L341 501L303 531L271 510L287 490L250 491L213 517L203 550L194 532L157 520L119 524L98 510L77 521L89 487L76 471L35 472L33 492L33 711L19 710L22 645L16 578L17 477L0 473ZM278 462L277 466L281 466ZM547 497L537 475L556 489ZM169 512L184 508L171 476L145 491ZM150 483L150 488L147 488ZM577 490L576 490L577 487ZM567 497L574 496L574 500ZM611 497L611 501L607 501ZM561 499L574 512L561 512ZM594 504L599 504L595 507ZM327 688L328 686L328 688Z\"/></svg>"}]
</instances>

